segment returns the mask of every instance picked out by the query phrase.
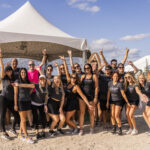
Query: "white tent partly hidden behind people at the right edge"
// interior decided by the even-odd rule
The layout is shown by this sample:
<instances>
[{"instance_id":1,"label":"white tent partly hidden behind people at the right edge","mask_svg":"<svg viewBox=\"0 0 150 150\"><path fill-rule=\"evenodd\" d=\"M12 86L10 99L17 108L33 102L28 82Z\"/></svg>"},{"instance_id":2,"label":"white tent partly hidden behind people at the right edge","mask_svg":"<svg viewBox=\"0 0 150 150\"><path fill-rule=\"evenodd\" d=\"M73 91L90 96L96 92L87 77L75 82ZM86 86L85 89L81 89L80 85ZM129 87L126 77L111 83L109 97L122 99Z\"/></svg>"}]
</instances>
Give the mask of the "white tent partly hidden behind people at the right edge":
<instances>
[{"instance_id":1,"label":"white tent partly hidden behind people at the right edge","mask_svg":"<svg viewBox=\"0 0 150 150\"><path fill-rule=\"evenodd\" d=\"M146 71L145 69L146 69L148 66L150 66L150 55L144 56L144 57L142 57L142 58L136 60L136 61L134 62L134 65L135 65L138 69L140 69L140 70L142 70L142 71ZM133 68L132 68L130 65L127 65L127 66L125 67L125 71L126 71L126 72L128 72L128 71L133 71Z\"/></svg>"}]
</instances>

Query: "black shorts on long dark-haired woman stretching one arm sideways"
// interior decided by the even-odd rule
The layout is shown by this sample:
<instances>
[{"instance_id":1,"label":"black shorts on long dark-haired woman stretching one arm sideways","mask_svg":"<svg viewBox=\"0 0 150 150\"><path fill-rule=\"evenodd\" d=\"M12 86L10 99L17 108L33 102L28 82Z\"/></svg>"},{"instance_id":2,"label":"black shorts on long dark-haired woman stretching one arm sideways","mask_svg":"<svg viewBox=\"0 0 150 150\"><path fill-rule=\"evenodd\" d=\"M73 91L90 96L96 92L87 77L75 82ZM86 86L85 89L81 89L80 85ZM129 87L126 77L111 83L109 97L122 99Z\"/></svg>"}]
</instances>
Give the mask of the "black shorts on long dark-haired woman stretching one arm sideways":
<instances>
[{"instance_id":1,"label":"black shorts on long dark-haired woman stretching one arm sideways","mask_svg":"<svg viewBox=\"0 0 150 150\"><path fill-rule=\"evenodd\" d=\"M18 101L18 110L19 111L31 110L31 101Z\"/></svg>"}]
</instances>

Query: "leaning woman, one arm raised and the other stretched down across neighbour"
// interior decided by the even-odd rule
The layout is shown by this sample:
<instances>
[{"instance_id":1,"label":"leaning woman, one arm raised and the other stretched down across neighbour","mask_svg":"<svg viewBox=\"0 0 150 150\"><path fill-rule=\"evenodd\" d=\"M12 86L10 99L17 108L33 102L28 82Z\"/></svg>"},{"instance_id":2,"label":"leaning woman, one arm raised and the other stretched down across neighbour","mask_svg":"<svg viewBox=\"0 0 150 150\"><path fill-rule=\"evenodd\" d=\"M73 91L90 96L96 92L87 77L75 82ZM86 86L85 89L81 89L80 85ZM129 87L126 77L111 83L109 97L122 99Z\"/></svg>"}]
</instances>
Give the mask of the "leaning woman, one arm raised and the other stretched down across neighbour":
<instances>
[{"instance_id":1,"label":"leaning woman, one arm raised and the other stretched down across neighbour","mask_svg":"<svg viewBox=\"0 0 150 150\"><path fill-rule=\"evenodd\" d=\"M94 107L89 103L88 99L82 92L80 86L79 86L79 79L76 73L72 73L69 75L68 66L66 63L66 59L64 56L60 56L60 58L64 61L64 67L67 77L67 103L65 107L66 111L66 123L73 129L72 134L78 133L78 128L75 122L71 120L71 118L74 116L75 112L79 109L77 94L83 99L85 104L87 104L89 111L93 111ZM93 118L94 119L94 118Z\"/></svg>"}]
</instances>

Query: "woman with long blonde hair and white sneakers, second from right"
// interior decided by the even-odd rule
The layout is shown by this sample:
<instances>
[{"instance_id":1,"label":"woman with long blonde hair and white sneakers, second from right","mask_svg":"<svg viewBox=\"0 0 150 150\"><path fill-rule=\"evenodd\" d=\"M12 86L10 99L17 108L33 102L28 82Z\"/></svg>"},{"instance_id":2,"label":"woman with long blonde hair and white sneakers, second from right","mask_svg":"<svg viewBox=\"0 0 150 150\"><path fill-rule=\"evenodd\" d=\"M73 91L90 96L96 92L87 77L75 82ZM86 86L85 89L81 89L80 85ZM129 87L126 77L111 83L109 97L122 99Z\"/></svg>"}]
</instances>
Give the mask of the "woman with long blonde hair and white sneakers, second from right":
<instances>
[{"instance_id":1,"label":"woman with long blonde hair and white sneakers, second from right","mask_svg":"<svg viewBox=\"0 0 150 150\"><path fill-rule=\"evenodd\" d=\"M145 95L141 93L136 79L130 73L125 74L125 92L130 103L130 107L126 108L126 116L129 124L129 130L127 134L136 135L138 130L136 128L136 122L134 113L139 105L139 96L144 98Z\"/></svg>"}]
</instances>

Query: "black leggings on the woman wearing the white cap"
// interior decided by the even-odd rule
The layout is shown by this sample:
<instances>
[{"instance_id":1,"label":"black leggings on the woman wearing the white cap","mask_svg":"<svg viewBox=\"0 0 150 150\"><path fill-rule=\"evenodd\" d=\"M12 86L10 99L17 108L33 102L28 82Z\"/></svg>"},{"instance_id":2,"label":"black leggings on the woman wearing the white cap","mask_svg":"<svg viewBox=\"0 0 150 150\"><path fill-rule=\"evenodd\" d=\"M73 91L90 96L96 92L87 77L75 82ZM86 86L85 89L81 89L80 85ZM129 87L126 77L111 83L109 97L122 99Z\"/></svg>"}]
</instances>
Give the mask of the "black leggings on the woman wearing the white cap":
<instances>
[{"instance_id":1,"label":"black leggings on the woman wearing the white cap","mask_svg":"<svg viewBox=\"0 0 150 150\"><path fill-rule=\"evenodd\" d=\"M38 115L38 111L39 111L39 115ZM42 129L45 129L46 115L44 112L44 105L42 106L32 105L32 114L33 114L33 124L35 125L35 129L38 129L38 125L40 121L42 124Z\"/></svg>"}]
</instances>

